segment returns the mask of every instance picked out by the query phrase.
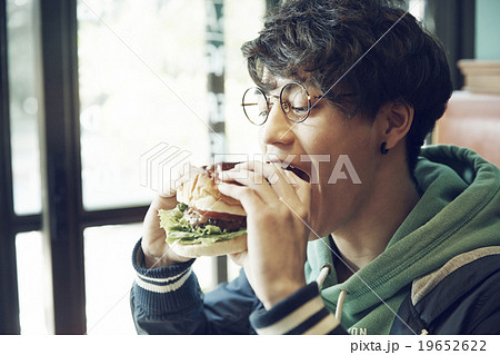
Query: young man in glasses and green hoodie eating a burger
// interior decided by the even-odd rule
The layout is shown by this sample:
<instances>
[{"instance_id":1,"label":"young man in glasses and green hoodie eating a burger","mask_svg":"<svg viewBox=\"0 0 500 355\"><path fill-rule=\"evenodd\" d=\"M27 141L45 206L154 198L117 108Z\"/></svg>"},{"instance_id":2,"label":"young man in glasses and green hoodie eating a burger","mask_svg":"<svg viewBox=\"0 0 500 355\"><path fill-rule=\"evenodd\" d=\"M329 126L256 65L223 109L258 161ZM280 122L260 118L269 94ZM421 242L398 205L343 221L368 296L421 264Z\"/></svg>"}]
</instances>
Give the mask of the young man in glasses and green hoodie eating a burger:
<instances>
[{"instance_id":1,"label":"young man in glasses and green hoodie eating a burger","mask_svg":"<svg viewBox=\"0 0 500 355\"><path fill-rule=\"evenodd\" d=\"M256 162L224 175L248 250L207 295L164 243L157 211L176 198L159 196L132 257L138 332L500 333L500 172L466 149L420 149L452 90L437 40L390 1L303 0L242 49L262 152L311 179Z\"/></svg>"}]
</instances>

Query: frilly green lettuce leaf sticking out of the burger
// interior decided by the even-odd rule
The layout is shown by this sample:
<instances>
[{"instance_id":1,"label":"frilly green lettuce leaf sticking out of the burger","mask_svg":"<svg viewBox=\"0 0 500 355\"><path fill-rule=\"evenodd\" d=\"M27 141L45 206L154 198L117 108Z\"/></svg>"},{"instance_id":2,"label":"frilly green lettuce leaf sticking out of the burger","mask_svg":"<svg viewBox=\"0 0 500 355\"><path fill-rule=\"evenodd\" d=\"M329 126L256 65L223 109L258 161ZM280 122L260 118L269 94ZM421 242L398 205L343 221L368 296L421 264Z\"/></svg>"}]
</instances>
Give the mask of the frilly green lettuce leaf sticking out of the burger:
<instances>
[{"instance_id":1,"label":"frilly green lettuce leaf sticking out of the burger","mask_svg":"<svg viewBox=\"0 0 500 355\"><path fill-rule=\"evenodd\" d=\"M167 243L189 244L213 244L220 240L228 240L240 237L247 234L247 229L237 231L228 231L221 229L219 226L204 226L202 228L193 228L183 218L184 210L188 205L178 204L173 209L160 209L158 216L160 217L160 226L167 231Z\"/></svg>"}]
</instances>

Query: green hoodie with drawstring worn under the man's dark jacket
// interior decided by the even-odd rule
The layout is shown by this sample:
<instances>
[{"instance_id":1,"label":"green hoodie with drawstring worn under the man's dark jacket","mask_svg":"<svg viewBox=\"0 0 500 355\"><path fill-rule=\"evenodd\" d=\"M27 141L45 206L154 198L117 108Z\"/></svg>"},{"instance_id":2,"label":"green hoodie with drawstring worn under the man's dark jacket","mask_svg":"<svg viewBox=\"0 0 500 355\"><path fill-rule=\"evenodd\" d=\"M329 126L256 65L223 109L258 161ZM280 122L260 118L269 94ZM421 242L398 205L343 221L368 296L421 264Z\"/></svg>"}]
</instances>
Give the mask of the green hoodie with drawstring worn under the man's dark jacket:
<instances>
[{"instance_id":1,"label":"green hoodie with drawstring worn under the man's dark jacket","mask_svg":"<svg viewBox=\"0 0 500 355\"><path fill-rule=\"evenodd\" d=\"M347 282L337 282L330 238L309 243L307 280L314 280L322 266L332 267L321 296L334 312L340 290L348 292L341 323L351 334L389 334L413 279L459 254L500 245L500 171L494 165L464 148L430 146L422 149L414 176L420 201L386 250Z\"/></svg>"}]
</instances>

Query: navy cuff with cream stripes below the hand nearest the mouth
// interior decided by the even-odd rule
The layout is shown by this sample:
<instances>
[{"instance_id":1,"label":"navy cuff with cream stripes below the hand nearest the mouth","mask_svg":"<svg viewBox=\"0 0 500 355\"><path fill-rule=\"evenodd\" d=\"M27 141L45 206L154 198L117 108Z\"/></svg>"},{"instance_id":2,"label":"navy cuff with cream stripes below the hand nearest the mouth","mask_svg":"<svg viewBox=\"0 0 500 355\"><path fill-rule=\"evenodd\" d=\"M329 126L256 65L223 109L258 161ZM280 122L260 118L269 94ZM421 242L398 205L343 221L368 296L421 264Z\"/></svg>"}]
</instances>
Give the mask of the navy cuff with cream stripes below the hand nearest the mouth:
<instances>
[{"instance_id":1,"label":"navy cuff with cream stripes below the hand nearest the mouth","mask_svg":"<svg viewBox=\"0 0 500 355\"><path fill-rule=\"evenodd\" d=\"M276 304L250 315L258 334L347 334L324 307L318 284L311 283Z\"/></svg>"}]
</instances>

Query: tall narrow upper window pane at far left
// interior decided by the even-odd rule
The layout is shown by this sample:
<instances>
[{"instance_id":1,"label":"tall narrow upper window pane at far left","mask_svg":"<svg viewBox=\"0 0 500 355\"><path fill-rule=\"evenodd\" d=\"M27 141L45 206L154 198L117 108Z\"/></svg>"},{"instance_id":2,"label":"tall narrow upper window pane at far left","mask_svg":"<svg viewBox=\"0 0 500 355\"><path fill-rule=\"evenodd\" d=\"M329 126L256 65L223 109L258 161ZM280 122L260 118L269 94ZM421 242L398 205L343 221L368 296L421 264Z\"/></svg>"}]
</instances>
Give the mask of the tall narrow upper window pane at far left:
<instances>
[{"instance_id":1,"label":"tall narrow upper window pane at far left","mask_svg":"<svg viewBox=\"0 0 500 355\"><path fill-rule=\"evenodd\" d=\"M8 67L14 211L41 210L36 1L8 0Z\"/></svg>"}]
</instances>

